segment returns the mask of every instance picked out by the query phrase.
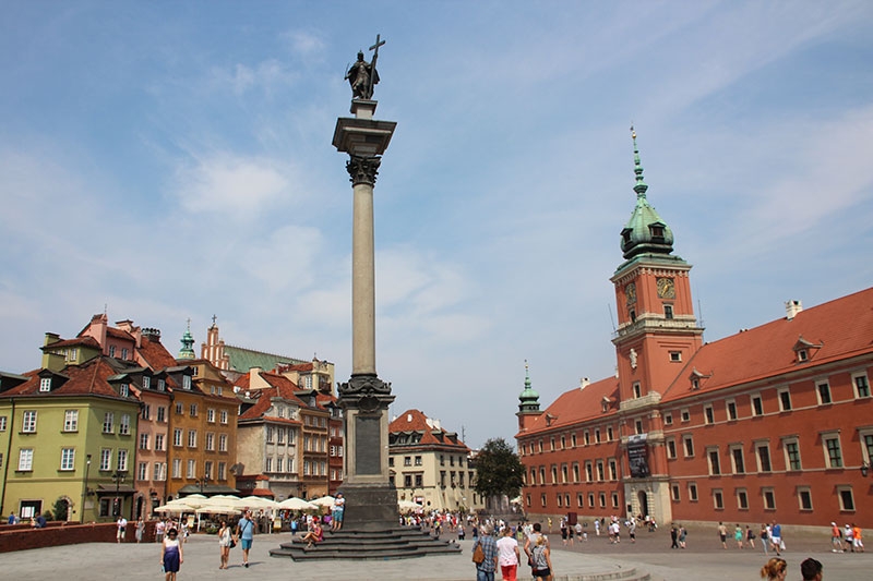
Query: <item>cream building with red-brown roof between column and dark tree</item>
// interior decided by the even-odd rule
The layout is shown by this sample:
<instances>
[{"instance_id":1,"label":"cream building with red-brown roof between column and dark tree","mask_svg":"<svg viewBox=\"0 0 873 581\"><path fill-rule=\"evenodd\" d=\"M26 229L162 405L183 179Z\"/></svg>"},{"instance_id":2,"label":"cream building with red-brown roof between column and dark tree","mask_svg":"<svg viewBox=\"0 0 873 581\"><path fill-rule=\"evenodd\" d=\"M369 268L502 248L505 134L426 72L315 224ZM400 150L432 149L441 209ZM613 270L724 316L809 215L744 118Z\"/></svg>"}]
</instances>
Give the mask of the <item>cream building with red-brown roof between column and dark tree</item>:
<instances>
[{"instance_id":1,"label":"cream building with red-brown roof between column and dark tree","mask_svg":"<svg viewBox=\"0 0 873 581\"><path fill-rule=\"evenodd\" d=\"M476 470L470 456L456 433L418 410L403 412L388 425L388 477L398 503L414 503L424 510L483 509L485 501L473 487Z\"/></svg>"}]
</instances>

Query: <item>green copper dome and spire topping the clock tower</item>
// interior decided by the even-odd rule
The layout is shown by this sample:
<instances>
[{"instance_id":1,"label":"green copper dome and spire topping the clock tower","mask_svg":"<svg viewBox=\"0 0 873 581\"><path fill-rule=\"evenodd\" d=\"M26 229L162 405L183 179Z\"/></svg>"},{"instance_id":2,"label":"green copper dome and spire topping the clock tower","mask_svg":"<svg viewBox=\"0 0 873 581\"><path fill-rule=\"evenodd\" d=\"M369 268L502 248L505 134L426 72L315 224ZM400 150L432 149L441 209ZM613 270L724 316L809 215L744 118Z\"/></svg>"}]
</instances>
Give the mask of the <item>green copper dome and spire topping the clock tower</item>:
<instances>
[{"instance_id":1,"label":"green copper dome and spire topping the clock tower","mask_svg":"<svg viewBox=\"0 0 873 581\"><path fill-rule=\"evenodd\" d=\"M625 258L633 258L643 253L670 254L673 252L673 232L646 198L648 185L643 179L643 166L639 162L639 149L636 146L636 132L633 128L631 137L634 142L636 206L631 219L621 231L621 250Z\"/></svg>"}]
</instances>

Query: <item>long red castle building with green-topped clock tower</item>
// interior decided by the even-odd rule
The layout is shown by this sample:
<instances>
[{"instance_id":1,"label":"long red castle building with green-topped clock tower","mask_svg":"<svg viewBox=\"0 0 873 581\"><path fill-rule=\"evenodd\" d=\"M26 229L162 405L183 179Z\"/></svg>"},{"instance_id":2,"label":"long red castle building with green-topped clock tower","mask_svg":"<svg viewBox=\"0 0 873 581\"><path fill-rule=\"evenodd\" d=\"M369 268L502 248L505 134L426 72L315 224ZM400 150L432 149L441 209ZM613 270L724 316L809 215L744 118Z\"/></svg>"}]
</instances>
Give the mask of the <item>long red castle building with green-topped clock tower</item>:
<instances>
[{"instance_id":1,"label":"long red castle building with green-topped clock tower","mask_svg":"<svg viewBox=\"0 0 873 581\"><path fill-rule=\"evenodd\" d=\"M703 344L691 265L647 198L611 281L618 373L545 410L525 378L518 450L535 516L873 526L873 288ZM839 517L839 518L837 518Z\"/></svg>"}]
</instances>

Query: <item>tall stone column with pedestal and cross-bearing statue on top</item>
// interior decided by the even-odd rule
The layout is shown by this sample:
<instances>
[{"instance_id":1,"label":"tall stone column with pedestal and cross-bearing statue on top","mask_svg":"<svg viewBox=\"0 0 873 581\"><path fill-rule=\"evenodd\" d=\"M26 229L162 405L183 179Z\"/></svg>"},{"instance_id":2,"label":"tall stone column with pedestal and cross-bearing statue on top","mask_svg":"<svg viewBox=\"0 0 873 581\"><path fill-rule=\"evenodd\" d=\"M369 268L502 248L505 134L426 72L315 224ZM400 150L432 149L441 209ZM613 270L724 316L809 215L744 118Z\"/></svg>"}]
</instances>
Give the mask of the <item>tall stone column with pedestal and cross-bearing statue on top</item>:
<instances>
[{"instance_id":1,"label":"tall stone column with pedestal and cross-bearing statue on top","mask_svg":"<svg viewBox=\"0 0 873 581\"><path fill-rule=\"evenodd\" d=\"M375 261L373 244L373 186L381 155L397 125L378 121L372 88L379 82L375 62L358 61L346 74L352 89L354 118L336 121L333 144L349 155L346 162L352 187L351 233L351 377L339 385L338 404L345 420L346 498L344 530L383 530L397 525L397 493L388 479L388 406L391 384L375 371Z\"/></svg>"}]
</instances>

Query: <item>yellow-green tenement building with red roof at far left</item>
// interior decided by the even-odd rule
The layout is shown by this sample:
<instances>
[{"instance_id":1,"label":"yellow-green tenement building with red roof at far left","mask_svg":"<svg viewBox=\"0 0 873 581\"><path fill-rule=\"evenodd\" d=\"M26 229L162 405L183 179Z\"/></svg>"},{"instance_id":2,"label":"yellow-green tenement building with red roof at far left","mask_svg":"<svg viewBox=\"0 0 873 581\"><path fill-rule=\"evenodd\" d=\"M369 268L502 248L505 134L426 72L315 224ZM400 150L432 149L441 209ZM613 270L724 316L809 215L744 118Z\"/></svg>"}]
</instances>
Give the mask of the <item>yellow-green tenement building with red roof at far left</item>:
<instances>
[{"instance_id":1,"label":"yellow-green tenement building with red roof at far left","mask_svg":"<svg viewBox=\"0 0 873 581\"><path fill-rule=\"evenodd\" d=\"M2 374L3 517L51 511L57 520L79 522L131 518L140 402L129 385L110 380L125 366L96 356L59 371ZM65 515L56 510L58 500Z\"/></svg>"}]
</instances>

